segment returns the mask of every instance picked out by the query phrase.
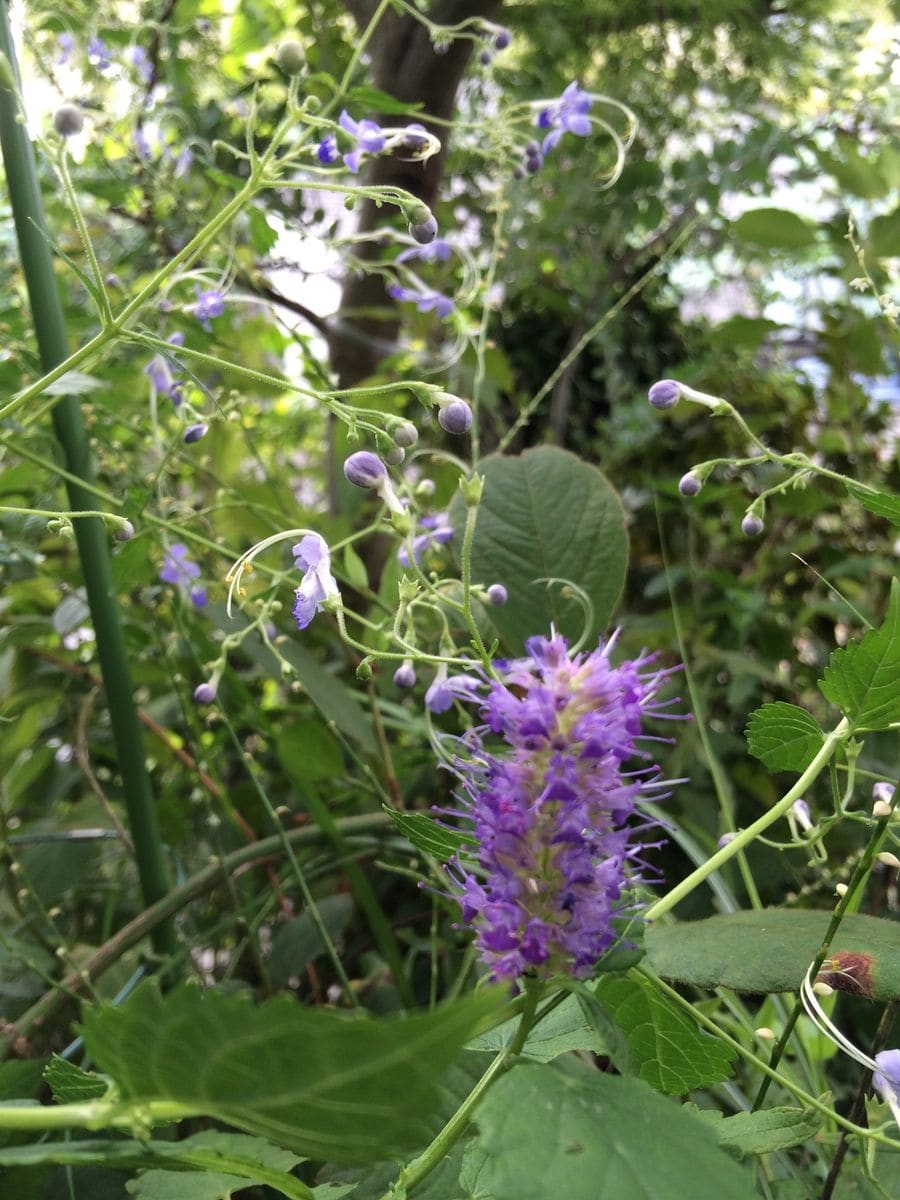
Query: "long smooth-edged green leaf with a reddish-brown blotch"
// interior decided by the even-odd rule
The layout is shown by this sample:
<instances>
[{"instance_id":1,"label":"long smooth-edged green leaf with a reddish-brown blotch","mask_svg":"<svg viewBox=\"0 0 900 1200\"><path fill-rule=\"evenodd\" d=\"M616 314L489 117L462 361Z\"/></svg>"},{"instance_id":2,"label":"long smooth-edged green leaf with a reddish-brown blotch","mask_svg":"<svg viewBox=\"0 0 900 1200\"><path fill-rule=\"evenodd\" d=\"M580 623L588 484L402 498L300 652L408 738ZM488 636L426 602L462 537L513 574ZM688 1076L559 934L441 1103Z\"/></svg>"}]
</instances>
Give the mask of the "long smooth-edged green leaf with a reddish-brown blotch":
<instances>
[{"instance_id":1,"label":"long smooth-edged green leaf with a reddish-brown blotch","mask_svg":"<svg viewBox=\"0 0 900 1200\"><path fill-rule=\"evenodd\" d=\"M829 912L766 908L650 925L647 961L656 974L697 988L797 991L822 944ZM900 922L851 913L832 942L833 988L889 1001L900 996Z\"/></svg>"}]
</instances>

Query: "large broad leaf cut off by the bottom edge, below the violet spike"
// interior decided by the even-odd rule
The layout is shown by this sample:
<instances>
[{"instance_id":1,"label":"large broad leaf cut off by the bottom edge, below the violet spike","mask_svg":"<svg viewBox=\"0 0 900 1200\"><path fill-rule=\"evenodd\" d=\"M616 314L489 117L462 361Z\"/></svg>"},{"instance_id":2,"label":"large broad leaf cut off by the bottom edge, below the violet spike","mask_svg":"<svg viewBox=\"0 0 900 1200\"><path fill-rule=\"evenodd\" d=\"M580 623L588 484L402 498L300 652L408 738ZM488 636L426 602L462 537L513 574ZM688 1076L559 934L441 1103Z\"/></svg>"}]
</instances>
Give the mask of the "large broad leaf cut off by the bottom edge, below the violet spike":
<instances>
[{"instance_id":1,"label":"large broad leaf cut off by the bottom edge, below the violet spike","mask_svg":"<svg viewBox=\"0 0 900 1200\"><path fill-rule=\"evenodd\" d=\"M755 1194L700 1121L634 1078L526 1063L497 1080L476 1120L480 1136L464 1174L492 1200Z\"/></svg>"}]
</instances>

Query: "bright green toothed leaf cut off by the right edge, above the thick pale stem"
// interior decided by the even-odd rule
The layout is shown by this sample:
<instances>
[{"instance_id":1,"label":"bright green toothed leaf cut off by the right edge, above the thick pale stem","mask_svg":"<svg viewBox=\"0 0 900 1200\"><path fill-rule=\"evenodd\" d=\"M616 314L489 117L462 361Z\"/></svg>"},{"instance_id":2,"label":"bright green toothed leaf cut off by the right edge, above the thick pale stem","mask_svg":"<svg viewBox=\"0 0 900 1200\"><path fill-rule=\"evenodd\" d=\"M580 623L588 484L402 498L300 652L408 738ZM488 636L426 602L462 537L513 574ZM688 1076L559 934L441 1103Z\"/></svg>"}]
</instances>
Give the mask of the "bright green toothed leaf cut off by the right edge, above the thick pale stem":
<instances>
[{"instance_id":1,"label":"bright green toothed leaf cut off by the right edge, above the thick pale stem","mask_svg":"<svg viewBox=\"0 0 900 1200\"><path fill-rule=\"evenodd\" d=\"M818 686L854 730L887 730L900 721L900 580L892 581L881 629L835 650Z\"/></svg>"}]
</instances>

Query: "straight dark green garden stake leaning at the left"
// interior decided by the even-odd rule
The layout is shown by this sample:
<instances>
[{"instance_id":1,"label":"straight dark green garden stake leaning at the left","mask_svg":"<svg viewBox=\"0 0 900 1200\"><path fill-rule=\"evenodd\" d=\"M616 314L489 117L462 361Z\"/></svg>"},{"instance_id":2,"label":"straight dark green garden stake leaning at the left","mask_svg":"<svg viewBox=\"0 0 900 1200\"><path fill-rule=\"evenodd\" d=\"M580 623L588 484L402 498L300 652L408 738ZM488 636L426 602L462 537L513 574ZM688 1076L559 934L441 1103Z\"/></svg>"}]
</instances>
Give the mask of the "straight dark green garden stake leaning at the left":
<instances>
[{"instance_id":1,"label":"straight dark green garden stake leaning at the left","mask_svg":"<svg viewBox=\"0 0 900 1200\"><path fill-rule=\"evenodd\" d=\"M8 86L14 82L19 94L22 92L10 31L7 0L0 0L0 54L6 56L6 62L0 60L0 67L8 66L8 71L0 71L0 151L2 151L41 366L44 371L52 371L68 358L68 337L53 270L35 157L25 126L19 120L16 94ZM70 473L66 482L68 506L79 511L94 509L91 491L95 481L94 466L80 406L74 396L64 396L54 407L53 426ZM108 534L106 526L97 517L85 517L73 524L88 605L97 638L97 656L122 776L128 824L134 841L140 890L144 906L149 907L166 895L169 880L152 788L145 767L144 739L134 707L125 635L113 592ZM175 926L172 920L158 925L151 938L154 950L160 955L168 956L178 950Z\"/></svg>"}]
</instances>

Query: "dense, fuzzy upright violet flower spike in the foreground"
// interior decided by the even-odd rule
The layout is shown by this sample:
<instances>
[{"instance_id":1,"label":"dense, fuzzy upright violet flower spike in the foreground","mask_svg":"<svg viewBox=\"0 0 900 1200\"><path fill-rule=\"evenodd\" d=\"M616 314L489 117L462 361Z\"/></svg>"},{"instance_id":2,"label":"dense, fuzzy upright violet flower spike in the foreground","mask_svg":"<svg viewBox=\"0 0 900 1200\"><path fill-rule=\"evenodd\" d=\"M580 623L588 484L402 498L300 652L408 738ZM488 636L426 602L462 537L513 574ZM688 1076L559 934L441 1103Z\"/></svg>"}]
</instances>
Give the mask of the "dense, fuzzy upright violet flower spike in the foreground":
<instances>
[{"instance_id":1,"label":"dense, fuzzy upright violet flower spike in the foreground","mask_svg":"<svg viewBox=\"0 0 900 1200\"><path fill-rule=\"evenodd\" d=\"M667 785L656 766L626 764L647 757L643 718L677 701L655 698L671 670L655 670L653 655L613 666L611 646L570 654L554 631L530 638L527 658L498 664L486 724L458 743L461 808L444 811L473 823L478 851L449 871L494 978L587 976L641 878L634 836L653 822L629 822L638 799ZM505 743L497 752L496 737Z\"/></svg>"}]
</instances>

